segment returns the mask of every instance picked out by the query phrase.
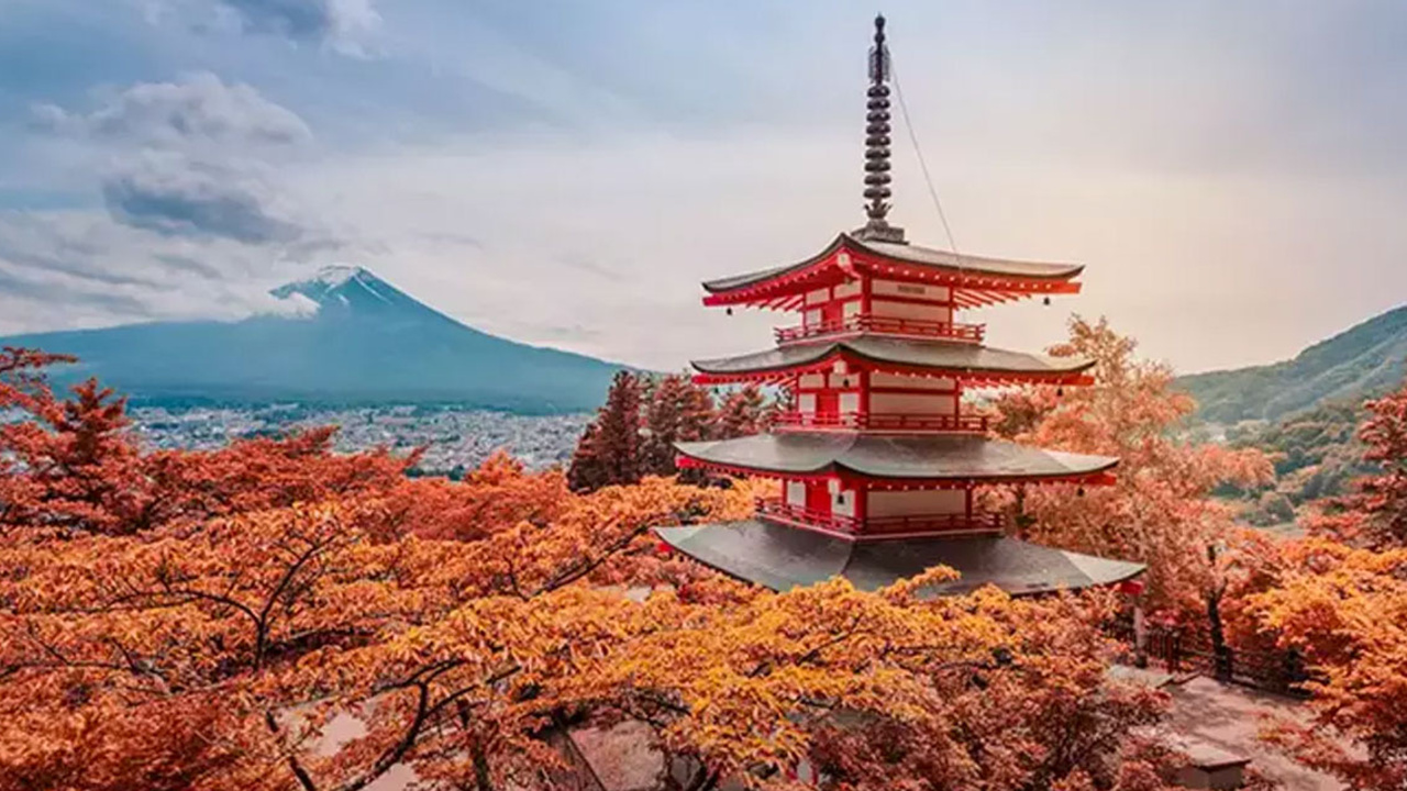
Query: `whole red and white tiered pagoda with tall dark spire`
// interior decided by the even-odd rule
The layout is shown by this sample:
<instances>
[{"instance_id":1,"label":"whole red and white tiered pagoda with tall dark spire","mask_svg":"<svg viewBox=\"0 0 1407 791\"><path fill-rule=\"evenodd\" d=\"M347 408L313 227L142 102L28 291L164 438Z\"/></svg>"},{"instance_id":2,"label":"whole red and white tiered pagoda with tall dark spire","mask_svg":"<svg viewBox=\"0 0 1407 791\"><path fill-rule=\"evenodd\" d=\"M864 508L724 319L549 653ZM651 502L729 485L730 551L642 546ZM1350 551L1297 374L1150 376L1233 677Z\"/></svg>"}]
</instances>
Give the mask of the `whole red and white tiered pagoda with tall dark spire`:
<instances>
[{"instance_id":1,"label":"whole red and white tiered pagoda with tall dark spire","mask_svg":"<svg viewBox=\"0 0 1407 791\"><path fill-rule=\"evenodd\" d=\"M680 467L774 479L753 519L660 528L673 549L772 590L844 576L864 590L944 564L961 578L936 593L995 584L1038 594L1110 586L1137 563L1006 536L974 493L989 486L1113 481L1119 460L989 436L964 407L983 387L1089 384L1090 360L993 349L961 311L1076 294L1082 266L958 255L909 243L889 214L889 52L875 18L870 51L867 222L785 266L704 283L705 305L795 311L775 346L696 360L701 384L778 387L785 408L767 434L681 442Z\"/></svg>"}]
</instances>

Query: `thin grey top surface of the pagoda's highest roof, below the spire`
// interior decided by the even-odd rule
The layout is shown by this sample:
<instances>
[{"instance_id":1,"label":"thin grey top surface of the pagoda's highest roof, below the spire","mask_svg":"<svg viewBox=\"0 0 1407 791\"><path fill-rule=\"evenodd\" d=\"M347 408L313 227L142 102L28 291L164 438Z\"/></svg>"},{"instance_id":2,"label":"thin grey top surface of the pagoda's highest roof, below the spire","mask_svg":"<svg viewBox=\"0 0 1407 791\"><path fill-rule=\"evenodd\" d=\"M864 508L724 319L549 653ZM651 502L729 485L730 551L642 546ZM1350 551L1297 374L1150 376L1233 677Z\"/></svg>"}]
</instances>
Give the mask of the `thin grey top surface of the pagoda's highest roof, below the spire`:
<instances>
[{"instance_id":1,"label":"thin grey top surface of the pagoda's highest roof, below the spire","mask_svg":"<svg viewBox=\"0 0 1407 791\"><path fill-rule=\"evenodd\" d=\"M836 236L830 245L820 251L819 253L799 260L796 263L789 263L785 266L774 266L771 269L763 269L758 272L749 272L746 274L734 274L732 277L719 277L716 280L706 280L704 289L711 294L720 294L726 291L733 291L737 289L746 289L750 286L757 286L767 280L777 277L785 277L788 274L799 274L801 272L810 269L819 263L832 259L841 249L848 251L851 255L860 256L857 263L867 263L865 256L874 256L877 259L884 259L896 263L916 265L924 269L931 269L936 273L953 274L953 276L986 276L998 279L1019 279L1019 280L1069 280L1083 272L1085 266L1079 263L1043 263L1033 260L1013 260L1000 258L985 258L974 255L958 255L951 251L940 251L934 248L924 248L920 245L910 245L906 242L879 242L879 241L862 241L851 234L840 234Z\"/></svg>"}]
</instances>

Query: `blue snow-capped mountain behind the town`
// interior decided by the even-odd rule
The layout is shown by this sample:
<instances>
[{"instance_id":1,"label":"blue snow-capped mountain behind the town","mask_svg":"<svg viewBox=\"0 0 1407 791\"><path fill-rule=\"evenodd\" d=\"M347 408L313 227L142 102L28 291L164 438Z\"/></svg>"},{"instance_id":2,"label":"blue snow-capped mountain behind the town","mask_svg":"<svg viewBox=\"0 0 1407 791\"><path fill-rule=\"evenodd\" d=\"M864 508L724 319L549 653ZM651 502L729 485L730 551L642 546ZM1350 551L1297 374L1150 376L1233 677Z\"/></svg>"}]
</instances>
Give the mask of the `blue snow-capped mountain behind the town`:
<instances>
[{"instance_id":1,"label":"blue snow-capped mountain behind the town","mask_svg":"<svg viewBox=\"0 0 1407 791\"><path fill-rule=\"evenodd\" d=\"M0 338L79 357L55 377L97 376L145 403L445 403L529 414L602 403L620 366L466 327L360 267L273 291L304 315L151 322Z\"/></svg>"}]
</instances>

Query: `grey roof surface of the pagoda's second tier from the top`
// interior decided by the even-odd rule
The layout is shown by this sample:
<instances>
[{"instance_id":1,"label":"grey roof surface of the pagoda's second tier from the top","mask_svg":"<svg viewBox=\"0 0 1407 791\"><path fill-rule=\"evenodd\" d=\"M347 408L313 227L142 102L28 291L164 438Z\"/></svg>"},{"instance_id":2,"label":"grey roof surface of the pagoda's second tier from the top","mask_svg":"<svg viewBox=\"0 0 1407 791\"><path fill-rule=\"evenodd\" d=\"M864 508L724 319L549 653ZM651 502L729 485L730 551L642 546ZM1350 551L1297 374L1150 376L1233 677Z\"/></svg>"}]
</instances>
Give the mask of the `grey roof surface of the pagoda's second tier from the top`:
<instances>
[{"instance_id":1,"label":"grey roof surface of the pagoda's second tier from the top","mask_svg":"<svg viewBox=\"0 0 1407 791\"><path fill-rule=\"evenodd\" d=\"M922 369L929 373L993 374L993 379L1017 374L1017 379L1068 379L1095 365L1083 357L1050 357L1026 352L1009 352L978 343L943 339L903 339L884 335L857 335L837 341L788 343L763 352L694 360L691 365L704 374L739 376L792 372L823 363L836 356L857 357L900 369Z\"/></svg>"}]
</instances>

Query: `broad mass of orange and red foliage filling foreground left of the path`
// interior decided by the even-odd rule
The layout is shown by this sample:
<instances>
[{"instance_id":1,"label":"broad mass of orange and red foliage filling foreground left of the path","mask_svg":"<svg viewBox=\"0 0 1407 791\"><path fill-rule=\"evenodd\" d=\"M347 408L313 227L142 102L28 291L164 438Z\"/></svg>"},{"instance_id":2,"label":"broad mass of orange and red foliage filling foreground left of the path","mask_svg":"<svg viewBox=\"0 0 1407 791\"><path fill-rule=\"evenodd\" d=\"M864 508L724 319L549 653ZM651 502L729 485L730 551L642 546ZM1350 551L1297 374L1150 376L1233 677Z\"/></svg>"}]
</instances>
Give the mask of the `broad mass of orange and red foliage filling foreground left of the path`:
<instances>
[{"instance_id":1,"label":"broad mass of orange and red foliage filling foreground left of the path","mask_svg":"<svg viewBox=\"0 0 1407 791\"><path fill-rule=\"evenodd\" d=\"M747 483L578 495L507 456L412 480L326 431L144 455L96 386L4 381L32 415L6 448L44 466L0 470L24 494L0 538L0 790L355 791L395 767L549 788L549 732L620 719L694 791L1164 787L1134 736L1162 697L1109 681L1099 597L920 598L941 569L764 593L649 535L747 515Z\"/></svg>"}]
</instances>

